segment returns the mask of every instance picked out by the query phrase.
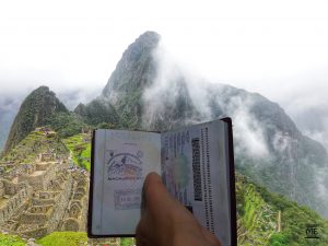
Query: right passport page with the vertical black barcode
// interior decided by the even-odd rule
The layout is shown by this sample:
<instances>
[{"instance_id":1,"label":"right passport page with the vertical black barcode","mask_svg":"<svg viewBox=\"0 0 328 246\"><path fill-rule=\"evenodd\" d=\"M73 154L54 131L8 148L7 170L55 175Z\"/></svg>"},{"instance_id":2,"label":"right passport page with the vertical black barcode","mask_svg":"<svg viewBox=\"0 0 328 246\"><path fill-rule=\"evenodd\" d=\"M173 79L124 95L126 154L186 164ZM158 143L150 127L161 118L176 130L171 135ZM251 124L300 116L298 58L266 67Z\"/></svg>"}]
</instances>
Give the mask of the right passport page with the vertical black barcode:
<instances>
[{"instance_id":1,"label":"right passport page with the vertical black barcode","mask_svg":"<svg viewBox=\"0 0 328 246\"><path fill-rule=\"evenodd\" d=\"M162 133L162 178L202 226L230 245L225 127L215 120Z\"/></svg>"}]
</instances>

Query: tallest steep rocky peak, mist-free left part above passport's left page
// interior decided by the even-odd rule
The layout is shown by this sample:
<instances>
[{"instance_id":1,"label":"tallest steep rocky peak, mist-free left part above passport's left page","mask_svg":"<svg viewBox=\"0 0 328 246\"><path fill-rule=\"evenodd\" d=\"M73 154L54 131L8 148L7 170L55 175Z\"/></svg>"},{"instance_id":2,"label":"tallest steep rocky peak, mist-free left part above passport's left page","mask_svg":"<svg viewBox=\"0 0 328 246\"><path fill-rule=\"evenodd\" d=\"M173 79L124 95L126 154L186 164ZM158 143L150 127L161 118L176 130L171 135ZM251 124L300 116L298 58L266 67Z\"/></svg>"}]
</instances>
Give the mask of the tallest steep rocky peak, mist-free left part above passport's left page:
<instances>
[{"instance_id":1,"label":"tallest steep rocky peak, mist-free left part above passport's left page","mask_svg":"<svg viewBox=\"0 0 328 246\"><path fill-rule=\"evenodd\" d=\"M87 105L79 105L74 112L92 125L110 122L117 127L140 128L142 92L156 74L152 51L159 40L160 35L154 32L137 38L124 52L102 95Z\"/></svg>"}]
</instances>

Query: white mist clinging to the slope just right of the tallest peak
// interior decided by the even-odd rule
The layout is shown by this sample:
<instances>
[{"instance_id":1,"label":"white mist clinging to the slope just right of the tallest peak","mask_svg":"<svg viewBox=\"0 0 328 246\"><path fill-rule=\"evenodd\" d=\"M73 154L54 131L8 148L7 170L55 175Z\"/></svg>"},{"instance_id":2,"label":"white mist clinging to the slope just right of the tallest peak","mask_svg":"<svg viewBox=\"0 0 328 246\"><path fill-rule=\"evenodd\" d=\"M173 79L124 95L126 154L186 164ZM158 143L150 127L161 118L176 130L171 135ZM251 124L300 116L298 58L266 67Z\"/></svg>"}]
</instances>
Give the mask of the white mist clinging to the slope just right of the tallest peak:
<instances>
[{"instance_id":1,"label":"white mist clinging to the slope just right of the tallest peak","mask_svg":"<svg viewBox=\"0 0 328 246\"><path fill-rule=\"evenodd\" d=\"M227 114L219 117L233 118L237 151L249 157L269 155L262 127L250 113L254 104L250 96L245 97L244 91L241 91L241 94L231 95L238 90L232 90L223 84L211 84L186 63L176 59L163 43L159 44L153 57L157 63L157 75L153 85L143 94L144 105L147 105L143 122L147 126L159 119L168 124L169 119L165 118L163 112L165 108L167 110L167 107L175 106L177 97L180 96L179 86L186 86L186 93L190 96L190 103L196 110L190 118L186 119L185 125L213 119L210 107L210 101L213 99ZM215 93L211 94L212 92Z\"/></svg>"}]
</instances>

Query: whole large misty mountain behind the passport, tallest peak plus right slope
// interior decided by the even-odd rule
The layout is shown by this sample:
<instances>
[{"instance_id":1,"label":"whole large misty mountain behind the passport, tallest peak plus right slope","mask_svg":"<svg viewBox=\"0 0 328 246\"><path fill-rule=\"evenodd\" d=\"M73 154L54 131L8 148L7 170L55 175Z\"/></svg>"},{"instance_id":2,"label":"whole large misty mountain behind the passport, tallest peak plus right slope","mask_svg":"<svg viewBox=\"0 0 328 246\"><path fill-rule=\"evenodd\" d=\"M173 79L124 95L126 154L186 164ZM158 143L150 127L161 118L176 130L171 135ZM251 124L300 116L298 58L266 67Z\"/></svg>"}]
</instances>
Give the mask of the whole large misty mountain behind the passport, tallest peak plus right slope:
<instances>
[{"instance_id":1,"label":"whole large misty mountain behind the passport, tallest peak plus right slope","mask_svg":"<svg viewBox=\"0 0 328 246\"><path fill-rule=\"evenodd\" d=\"M86 122L118 128L165 130L180 125L230 116L234 122L236 165L271 191L312 207L328 216L327 152L304 137L276 103L224 84L190 81L178 68L169 73L154 51L160 36L147 32L124 52L102 95L75 113ZM163 72L164 71L164 72ZM166 75L166 77L165 77ZM166 84L163 86L163 84ZM110 113L93 104L110 108ZM87 117L80 112L87 112ZM115 116L107 120L105 116ZM314 190L320 190L316 192Z\"/></svg>"}]
</instances>

